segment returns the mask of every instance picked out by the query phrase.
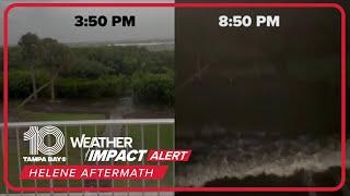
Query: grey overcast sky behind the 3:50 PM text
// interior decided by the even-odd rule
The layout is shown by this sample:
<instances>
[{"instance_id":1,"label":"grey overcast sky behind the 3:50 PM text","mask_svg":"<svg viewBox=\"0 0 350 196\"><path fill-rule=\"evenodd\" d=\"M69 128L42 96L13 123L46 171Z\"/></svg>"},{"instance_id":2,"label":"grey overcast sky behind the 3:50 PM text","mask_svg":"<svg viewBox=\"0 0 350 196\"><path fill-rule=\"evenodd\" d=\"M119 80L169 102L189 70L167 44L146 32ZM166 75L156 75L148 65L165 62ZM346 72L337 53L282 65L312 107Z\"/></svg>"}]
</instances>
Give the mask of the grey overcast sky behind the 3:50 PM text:
<instances>
[{"instance_id":1,"label":"grey overcast sky behind the 3:50 PM text","mask_svg":"<svg viewBox=\"0 0 350 196\"><path fill-rule=\"evenodd\" d=\"M3 8L4 4L1 5ZM106 15L108 19L110 15L136 15L136 26L75 27L75 15ZM36 33L42 38L51 37L61 42L174 39L174 9L15 8L10 12L9 28L10 45L15 45L27 32ZM0 34L2 38L2 29Z\"/></svg>"}]
</instances>

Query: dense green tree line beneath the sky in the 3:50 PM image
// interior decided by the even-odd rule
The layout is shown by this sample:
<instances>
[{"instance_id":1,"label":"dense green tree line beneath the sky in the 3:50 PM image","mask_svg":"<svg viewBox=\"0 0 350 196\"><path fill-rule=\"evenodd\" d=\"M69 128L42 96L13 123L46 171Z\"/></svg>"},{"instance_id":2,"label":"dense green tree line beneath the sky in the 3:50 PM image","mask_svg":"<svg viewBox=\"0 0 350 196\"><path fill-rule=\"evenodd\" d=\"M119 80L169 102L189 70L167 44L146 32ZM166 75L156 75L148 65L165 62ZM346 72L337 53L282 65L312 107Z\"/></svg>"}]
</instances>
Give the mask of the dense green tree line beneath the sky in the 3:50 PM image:
<instances>
[{"instance_id":1,"label":"dense green tree line beneath the sky in the 3:50 PM image","mask_svg":"<svg viewBox=\"0 0 350 196\"><path fill-rule=\"evenodd\" d=\"M70 47L33 33L9 48L9 97L23 99L20 106L38 98L120 96L132 96L140 103L173 106L174 89L173 51L136 46Z\"/></svg>"}]
</instances>

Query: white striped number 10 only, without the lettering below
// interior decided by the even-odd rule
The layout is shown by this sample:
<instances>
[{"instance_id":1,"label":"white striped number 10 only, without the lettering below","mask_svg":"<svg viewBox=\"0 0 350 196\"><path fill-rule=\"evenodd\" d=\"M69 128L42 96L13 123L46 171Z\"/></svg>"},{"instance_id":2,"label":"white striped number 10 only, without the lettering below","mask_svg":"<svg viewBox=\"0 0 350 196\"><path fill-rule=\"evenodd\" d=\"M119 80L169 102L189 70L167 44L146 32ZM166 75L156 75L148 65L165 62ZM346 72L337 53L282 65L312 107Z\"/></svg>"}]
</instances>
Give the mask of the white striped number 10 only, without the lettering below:
<instances>
[{"instance_id":1,"label":"white striped number 10 only, without the lettering below","mask_svg":"<svg viewBox=\"0 0 350 196\"><path fill-rule=\"evenodd\" d=\"M52 146L47 146L44 143L44 138L49 135L55 137ZM65 146L65 135L58 127L51 125L43 126L40 130L38 126L30 126L23 136L23 140L30 140L30 155L37 155L39 151L46 156L54 156L60 152Z\"/></svg>"}]
</instances>

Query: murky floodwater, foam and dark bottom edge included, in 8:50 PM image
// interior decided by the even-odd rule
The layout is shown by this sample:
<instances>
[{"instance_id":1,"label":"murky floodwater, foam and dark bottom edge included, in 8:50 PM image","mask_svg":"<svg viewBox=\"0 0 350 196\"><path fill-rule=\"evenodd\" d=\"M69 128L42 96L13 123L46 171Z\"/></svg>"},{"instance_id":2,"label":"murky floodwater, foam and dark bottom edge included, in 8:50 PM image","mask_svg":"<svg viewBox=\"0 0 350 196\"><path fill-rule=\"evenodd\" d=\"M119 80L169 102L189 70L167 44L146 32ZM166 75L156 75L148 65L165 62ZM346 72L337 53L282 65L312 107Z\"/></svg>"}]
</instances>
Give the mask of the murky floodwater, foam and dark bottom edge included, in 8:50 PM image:
<instances>
[{"instance_id":1,"label":"murky floodwater, foam and dark bottom edge included, in 8:50 PM image","mask_svg":"<svg viewBox=\"0 0 350 196\"><path fill-rule=\"evenodd\" d=\"M340 176L340 139L287 139L237 133L184 142L190 162L177 164L178 186L335 186ZM330 180L323 180L330 179Z\"/></svg>"}]
</instances>

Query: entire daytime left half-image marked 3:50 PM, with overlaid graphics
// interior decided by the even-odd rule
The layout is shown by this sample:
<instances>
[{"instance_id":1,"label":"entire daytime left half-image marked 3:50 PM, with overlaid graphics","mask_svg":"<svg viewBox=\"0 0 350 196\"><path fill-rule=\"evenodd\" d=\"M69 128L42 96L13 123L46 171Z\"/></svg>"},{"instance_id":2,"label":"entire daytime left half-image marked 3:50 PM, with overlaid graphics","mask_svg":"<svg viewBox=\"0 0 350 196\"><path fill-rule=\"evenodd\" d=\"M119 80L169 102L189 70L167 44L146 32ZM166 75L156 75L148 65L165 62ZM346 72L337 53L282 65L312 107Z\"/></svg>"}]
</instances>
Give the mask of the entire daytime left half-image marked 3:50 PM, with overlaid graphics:
<instances>
[{"instance_id":1,"label":"entire daytime left half-image marked 3:50 PM, with overlaid graphics","mask_svg":"<svg viewBox=\"0 0 350 196\"><path fill-rule=\"evenodd\" d=\"M14 8L7 49L12 186L174 186L173 8Z\"/></svg>"}]
</instances>

